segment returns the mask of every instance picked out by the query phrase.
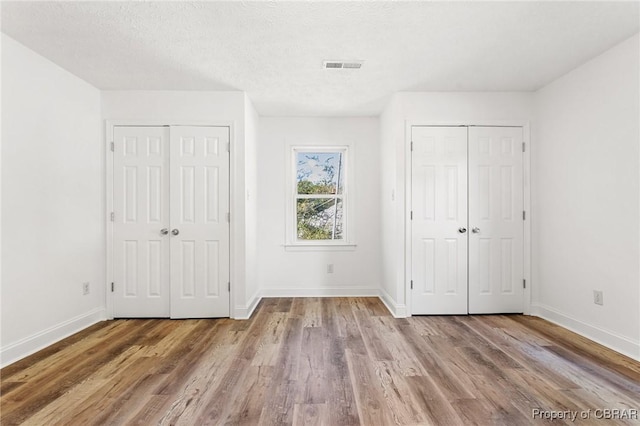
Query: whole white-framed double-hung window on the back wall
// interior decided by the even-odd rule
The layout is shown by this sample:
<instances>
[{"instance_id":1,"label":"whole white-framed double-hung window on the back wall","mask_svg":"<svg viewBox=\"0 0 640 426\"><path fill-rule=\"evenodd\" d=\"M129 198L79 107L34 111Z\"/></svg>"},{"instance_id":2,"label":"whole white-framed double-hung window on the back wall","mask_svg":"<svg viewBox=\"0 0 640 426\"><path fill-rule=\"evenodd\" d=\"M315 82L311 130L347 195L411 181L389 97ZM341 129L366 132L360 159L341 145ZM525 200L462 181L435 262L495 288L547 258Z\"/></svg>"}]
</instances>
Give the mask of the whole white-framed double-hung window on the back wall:
<instances>
[{"instance_id":1,"label":"whole white-framed double-hung window on the back wall","mask_svg":"<svg viewBox=\"0 0 640 426\"><path fill-rule=\"evenodd\" d=\"M293 147L292 245L347 245L347 147Z\"/></svg>"}]
</instances>

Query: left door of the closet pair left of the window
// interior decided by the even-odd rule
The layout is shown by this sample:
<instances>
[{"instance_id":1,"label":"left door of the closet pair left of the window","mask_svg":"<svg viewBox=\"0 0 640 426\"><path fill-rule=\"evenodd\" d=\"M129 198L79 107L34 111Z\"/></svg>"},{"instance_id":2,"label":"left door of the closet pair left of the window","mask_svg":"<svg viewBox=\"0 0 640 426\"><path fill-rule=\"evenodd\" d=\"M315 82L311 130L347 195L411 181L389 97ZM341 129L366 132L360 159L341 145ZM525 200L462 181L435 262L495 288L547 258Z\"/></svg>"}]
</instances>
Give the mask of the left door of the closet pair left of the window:
<instances>
[{"instance_id":1,"label":"left door of the closet pair left of the window","mask_svg":"<svg viewBox=\"0 0 640 426\"><path fill-rule=\"evenodd\" d=\"M169 316L169 128L114 128L115 317Z\"/></svg>"}]
</instances>

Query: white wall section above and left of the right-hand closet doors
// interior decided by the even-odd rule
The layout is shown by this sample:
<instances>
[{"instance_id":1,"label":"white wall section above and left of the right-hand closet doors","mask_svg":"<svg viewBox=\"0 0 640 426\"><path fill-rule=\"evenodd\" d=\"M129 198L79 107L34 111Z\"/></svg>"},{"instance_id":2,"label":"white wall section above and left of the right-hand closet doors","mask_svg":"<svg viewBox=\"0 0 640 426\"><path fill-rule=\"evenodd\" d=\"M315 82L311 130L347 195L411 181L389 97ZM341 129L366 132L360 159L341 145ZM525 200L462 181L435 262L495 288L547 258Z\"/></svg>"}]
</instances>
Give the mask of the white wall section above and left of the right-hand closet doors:
<instances>
[{"instance_id":1,"label":"white wall section above and left of the right-hand closet doors","mask_svg":"<svg viewBox=\"0 0 640 426\"><path fill-rule=\"evenodd\" d=\"M380 119L383 297L395 315L407 313L405 123L527 123L532 116L532 93L402 92L388 104Z\"/></svg>"}]
</instances>

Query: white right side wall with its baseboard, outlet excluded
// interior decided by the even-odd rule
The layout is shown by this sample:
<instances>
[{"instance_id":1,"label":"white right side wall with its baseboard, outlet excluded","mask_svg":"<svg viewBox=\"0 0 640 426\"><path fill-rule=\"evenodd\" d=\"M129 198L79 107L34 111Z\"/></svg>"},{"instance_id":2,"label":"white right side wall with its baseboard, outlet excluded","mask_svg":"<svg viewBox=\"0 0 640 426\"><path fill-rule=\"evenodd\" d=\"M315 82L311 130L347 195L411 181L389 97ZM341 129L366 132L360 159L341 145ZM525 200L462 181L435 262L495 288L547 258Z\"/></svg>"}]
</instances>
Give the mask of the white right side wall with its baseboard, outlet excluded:
<instances>
[{"instance_id":1,"label":"white right side wall with its baseboard, outlet excluded","mask_svg":"<svg viewBox=\"0 0 640 426\"><path fill-rule=\"evenodd\" d=\"M638 35L536 94L534 304L640 359ZM604 291L604 305L593 303Z\"/></svg>"}]
</instances>

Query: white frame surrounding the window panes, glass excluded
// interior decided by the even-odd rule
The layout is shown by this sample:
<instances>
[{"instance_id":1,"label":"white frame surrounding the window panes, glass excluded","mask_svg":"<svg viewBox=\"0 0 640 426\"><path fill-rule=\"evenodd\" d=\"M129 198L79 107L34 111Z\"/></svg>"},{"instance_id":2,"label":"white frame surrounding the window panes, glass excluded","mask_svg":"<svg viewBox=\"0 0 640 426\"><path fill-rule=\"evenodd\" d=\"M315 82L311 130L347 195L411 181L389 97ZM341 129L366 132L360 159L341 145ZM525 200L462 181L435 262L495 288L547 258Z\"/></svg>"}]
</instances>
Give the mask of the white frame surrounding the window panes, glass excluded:
<instances>
[{"instance_id":1,"label":"white frame surrounding the window panes, glass excluded","mask_svg":"<svg viewBox=\"0 0 640 426\"><path fill-rule=\"evenodd\" d=\"M342 181L343 192L340 195L342 199L342 235L340 240L299 240L298 239L298 223L296 214L297 205L297 170L298 170L298 153L300 152L342 152ZM354 230L351 218L353 217L353 147L351 145L289 145L287 149L288 164L286 172L287 196L286 196L286 242L287 250L353 250ZM337 197L337 195L336 195Z\"/></svg>"}]
</instances>

